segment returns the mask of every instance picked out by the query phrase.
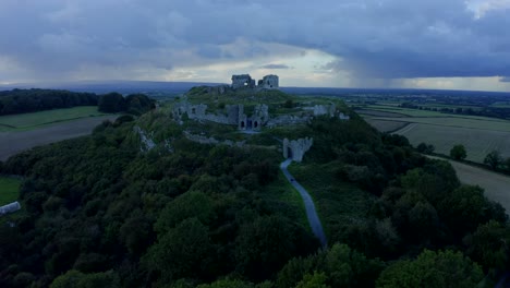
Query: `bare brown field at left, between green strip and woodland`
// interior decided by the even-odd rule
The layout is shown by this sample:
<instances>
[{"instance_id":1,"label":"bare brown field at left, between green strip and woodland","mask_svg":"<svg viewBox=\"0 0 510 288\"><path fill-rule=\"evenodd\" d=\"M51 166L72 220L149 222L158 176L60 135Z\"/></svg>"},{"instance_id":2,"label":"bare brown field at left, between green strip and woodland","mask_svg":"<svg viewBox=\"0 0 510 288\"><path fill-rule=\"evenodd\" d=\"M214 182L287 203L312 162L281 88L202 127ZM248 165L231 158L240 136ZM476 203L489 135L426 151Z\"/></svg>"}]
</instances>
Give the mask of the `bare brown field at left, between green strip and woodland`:
<instances>
[{"instance_id":1,"label":"bare brown field at left, between green strip and woodland","mask_svg":"<svg viewBox=\"0 0 510 288\"><path fill-rule=\"evenodd\" d=\"M4 161L12 155L66 139L92 133L94 128L104 120L114 120L118 116L102 116L58 123L32 131L0 132L0 160Z\"/></svg>"}]
</instances>

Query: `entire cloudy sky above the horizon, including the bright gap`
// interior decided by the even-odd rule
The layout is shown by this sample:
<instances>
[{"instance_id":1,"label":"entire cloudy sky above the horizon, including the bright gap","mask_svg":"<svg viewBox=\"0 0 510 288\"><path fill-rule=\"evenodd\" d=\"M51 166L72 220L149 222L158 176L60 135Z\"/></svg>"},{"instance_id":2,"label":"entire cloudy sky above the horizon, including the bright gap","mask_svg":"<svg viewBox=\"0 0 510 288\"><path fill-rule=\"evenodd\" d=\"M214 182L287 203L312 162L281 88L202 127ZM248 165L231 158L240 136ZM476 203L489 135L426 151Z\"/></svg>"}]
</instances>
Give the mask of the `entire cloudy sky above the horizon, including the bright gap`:
<instances>
[{"instance_id":1,"label":"entire cloudy sky above the horizon, including the bright gap","mask_svg":"<svg viewBox=\"0 0 510 288\"><path fill-rule=\"evenodd\" d=\"M510 0L0 0L0 84L510 91Z\"/></svg>"}]
</instances>

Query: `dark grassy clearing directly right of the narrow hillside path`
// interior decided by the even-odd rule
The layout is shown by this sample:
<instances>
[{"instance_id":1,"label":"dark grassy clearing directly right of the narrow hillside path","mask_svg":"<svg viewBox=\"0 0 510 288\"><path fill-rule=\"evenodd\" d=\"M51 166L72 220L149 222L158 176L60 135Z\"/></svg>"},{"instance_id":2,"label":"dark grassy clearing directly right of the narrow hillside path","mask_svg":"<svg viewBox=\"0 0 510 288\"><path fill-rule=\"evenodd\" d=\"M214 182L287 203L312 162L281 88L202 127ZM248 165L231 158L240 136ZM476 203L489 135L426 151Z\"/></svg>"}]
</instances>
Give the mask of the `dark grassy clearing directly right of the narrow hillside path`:
<instances>
[{"instance_id":1,"label":"dark grassy clearing directly right of the narrow hillside path","mask_svg":"<svg viewBox=\"0 0 510 288\"><path fill-rule=\"evenodd\" d=\"M289 171L309 192L328 239L336 228L364 219L375 196L335 177L335 167L292 164Z\"/></svg>"}]
</instances>

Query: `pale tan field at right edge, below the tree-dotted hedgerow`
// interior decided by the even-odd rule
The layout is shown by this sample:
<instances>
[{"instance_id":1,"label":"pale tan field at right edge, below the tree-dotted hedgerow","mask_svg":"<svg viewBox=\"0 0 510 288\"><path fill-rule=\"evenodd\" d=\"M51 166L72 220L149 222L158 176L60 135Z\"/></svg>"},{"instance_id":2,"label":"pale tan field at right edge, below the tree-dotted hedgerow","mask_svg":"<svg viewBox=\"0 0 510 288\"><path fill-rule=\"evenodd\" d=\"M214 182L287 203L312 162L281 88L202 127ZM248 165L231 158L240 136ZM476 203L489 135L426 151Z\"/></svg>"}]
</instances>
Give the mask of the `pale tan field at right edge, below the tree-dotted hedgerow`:
<instances>
[{"instance_id":1,"label":"pale tan field at right edge, below the tree-dotted hedgerow","mask_svg":"<svg viewBox=\"0 0 510 288\"><path fill-rule=\"evenodd\" d=\"M441 159L438 157L430 157ZM485 195L493 201L499 202L507 214L510 214L510 177L469 166L462 163L449 160L457 171L462 183L479 185L485 189Z\"/></svg>"}]
</instances>

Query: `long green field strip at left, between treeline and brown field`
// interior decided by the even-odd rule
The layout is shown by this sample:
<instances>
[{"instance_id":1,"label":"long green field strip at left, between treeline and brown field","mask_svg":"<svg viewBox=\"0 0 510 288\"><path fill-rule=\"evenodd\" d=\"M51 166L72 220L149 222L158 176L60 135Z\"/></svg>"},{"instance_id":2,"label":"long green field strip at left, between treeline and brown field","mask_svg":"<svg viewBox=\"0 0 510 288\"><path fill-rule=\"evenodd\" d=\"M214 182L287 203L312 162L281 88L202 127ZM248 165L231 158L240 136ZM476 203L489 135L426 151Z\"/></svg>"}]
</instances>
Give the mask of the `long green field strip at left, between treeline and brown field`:
<instances>
[{"instance_id":1,"label":"long green field strip at left, between treeline and brown field","mask_svg":"<svg viewBox=\"0 0 510 288\"><path fill-rule=\"evenodd\" d=\"M104 115L106 113L97 111L97 106L80 106L33 113L1 116L0 132L32 130L51 123Z\"/></svg>"}]
</instances>

